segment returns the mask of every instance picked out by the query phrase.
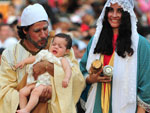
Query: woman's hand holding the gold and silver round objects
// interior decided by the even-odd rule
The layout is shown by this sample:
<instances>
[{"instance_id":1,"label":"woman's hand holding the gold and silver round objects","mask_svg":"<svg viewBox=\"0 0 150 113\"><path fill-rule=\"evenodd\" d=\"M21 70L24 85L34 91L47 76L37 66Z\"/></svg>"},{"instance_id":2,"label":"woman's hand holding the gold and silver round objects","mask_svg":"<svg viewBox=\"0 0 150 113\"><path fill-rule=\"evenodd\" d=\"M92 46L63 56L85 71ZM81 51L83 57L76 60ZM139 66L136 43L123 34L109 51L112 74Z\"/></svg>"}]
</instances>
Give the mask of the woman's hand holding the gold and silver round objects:
<instances>
[{"instance_id":1,"label":"woman's hand holding the gold and silver round objects","mask_svg":"<svg viewBox=\"0 0 150 113\"><path fill-rule=\"evenodd\" d=\"M102 70L100 70L96 74L90 74L87 78L86 81L89 84L96 83L96 82L111 82L111 77L108 76L100 76Z\"/></svg>"}]
</instances>

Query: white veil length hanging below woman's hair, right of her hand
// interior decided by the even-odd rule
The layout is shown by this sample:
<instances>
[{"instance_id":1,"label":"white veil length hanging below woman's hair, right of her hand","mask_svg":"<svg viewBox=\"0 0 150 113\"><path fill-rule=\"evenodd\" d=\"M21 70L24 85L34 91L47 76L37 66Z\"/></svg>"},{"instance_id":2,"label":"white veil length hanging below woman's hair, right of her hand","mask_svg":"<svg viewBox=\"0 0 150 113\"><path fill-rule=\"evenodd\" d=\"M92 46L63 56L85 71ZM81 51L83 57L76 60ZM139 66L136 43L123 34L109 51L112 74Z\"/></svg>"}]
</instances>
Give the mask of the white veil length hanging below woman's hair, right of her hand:
<instances>
[{"instance_id":1,"label":"white veil length hanging below woman's hair, right of her hand","mask_svg":"<svg viewBox=\"0 0 150 113\"><path fill-rule=\"evenodd\" d=\"M137 79L137 46L138 36L133 37L134 54L122 58L115 52L112 84L113 113L135 113L136 111L136 79ZM120 87L121 86L121 87ZM120 109L119 109L120 108Z\"/></svg>"}]
</instances>

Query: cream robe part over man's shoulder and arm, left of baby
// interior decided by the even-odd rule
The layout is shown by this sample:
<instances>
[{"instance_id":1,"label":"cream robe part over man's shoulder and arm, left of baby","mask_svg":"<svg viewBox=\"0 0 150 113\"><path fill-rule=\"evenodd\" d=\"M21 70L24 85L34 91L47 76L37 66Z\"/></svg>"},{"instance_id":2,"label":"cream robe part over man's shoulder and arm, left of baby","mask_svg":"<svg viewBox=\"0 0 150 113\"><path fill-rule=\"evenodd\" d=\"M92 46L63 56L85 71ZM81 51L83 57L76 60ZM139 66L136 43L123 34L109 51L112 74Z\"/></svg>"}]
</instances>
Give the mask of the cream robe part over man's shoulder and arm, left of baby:
<instances>
[{"instance_id":1,"label":"cream robe part over man's shoulder and arm, left of baby","mask_svg":"<svg viewBox=\"0 0 150 113\"><path fill-rule=\"evenodd\" d=\"M16 87L25 75L26 67L15 70L13 66L28 56L29 52L19 43L3 52L0 71L0 113L16 113L19 103Z\"/></svg>"}]
</instances>

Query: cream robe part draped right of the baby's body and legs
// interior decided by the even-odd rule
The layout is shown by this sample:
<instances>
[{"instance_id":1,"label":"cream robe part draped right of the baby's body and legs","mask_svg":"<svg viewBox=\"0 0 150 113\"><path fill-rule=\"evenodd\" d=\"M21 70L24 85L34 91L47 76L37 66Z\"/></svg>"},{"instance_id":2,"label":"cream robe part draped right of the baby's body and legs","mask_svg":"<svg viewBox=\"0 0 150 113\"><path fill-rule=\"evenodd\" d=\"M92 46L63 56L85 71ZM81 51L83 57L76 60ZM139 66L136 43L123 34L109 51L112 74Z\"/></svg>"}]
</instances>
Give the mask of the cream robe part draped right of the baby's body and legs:
<instances>
[{"instance_id":1,"label":"cream robe part draped right of the baby's body and legs","mask_svg":"<svg viewBox=\"0 0 150 113\"><path fill-rule=\"evenodd\" d=\"M72 67L72 77L67 88L62 88L62 80L65 76L63 69L58 67L58 65L54 67L54 78L51 79L53 84L51 99L53 113L76 113L75 105L85 85L78 63L73 58L74 55L72 53L70 56L75 66Z\"/></svg>"}]
</instances>

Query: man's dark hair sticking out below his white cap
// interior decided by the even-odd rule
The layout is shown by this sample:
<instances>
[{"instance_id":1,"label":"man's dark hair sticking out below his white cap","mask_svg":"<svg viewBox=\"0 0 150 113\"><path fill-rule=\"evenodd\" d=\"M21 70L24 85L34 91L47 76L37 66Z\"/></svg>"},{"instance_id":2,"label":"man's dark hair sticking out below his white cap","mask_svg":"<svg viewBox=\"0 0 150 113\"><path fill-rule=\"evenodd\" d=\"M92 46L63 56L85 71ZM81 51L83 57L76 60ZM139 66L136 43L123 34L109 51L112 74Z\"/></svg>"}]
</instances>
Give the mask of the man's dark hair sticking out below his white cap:
<instances>
[{"instance_id":1,"label":"man's dark hair sticking out below his white cap","mask_svg":"<svg viewBox=\"0 0 150 113\"><path fill-rule=\"evenodd\" d=\"M26 39L26 34L24 34L23 30L28 31L29 28L30 26L17 26L20 39Z\"/></svg>"}]
</instances>

